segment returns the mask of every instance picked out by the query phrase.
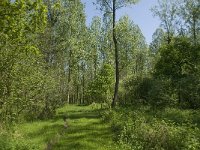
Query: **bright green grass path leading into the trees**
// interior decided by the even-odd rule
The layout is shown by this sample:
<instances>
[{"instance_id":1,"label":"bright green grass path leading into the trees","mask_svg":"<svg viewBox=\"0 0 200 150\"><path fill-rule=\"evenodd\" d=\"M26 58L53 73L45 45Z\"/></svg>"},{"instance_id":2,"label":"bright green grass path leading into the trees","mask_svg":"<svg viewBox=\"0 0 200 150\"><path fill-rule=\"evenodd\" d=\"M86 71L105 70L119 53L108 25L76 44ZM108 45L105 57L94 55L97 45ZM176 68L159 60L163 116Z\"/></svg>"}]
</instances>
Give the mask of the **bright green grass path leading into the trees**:
<instances>
[{"instance_id":1,"label":"bright green grass path leading into the trees","mask_svg":"<svg viewBox=\"0 0 200 150\"><path fill-rule=\"evenodd\" d=\"M67 128L63 116L67 116ZM68 105L59 109L54 119L21 124L17 130L38 149L117 149L109 125L101 121L98 111L91 106Z\"/></svg>"}]
</instances>

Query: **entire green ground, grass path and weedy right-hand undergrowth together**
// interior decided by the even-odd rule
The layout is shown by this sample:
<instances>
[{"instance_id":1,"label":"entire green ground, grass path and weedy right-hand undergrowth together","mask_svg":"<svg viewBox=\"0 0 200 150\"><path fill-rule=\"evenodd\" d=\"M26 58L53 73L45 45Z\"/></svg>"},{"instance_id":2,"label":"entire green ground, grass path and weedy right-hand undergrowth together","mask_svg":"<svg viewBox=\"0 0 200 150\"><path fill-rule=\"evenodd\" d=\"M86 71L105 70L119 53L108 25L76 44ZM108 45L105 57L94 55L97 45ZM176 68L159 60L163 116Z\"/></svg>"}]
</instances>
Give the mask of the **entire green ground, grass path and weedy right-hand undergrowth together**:
<instances>
[{"instance_id":1,"label":"entire green ground, grass path and weedy right-hand undergrowth together","mask_svg":"<svg viewBox=\"0 0 200 150\"><path fill-rule=\"evenodd\" d=\"M102 122L99 112L92 106L67 105L53 119L18 124L7 140L6 132L0 134L0 150L200 149L200 110L117 107L102 113L109 123Z\"/></svg>"}]
</instances>

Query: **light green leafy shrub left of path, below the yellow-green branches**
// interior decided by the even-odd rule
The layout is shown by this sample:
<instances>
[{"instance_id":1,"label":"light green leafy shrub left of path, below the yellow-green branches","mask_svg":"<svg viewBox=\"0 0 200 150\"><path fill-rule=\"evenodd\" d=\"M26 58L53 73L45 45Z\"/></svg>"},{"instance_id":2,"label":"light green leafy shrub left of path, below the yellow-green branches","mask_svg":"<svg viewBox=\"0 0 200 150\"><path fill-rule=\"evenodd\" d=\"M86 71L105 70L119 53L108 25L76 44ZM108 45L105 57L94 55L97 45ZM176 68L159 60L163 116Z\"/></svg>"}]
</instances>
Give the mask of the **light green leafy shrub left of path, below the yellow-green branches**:
<instances>
[{"instance_id":1,"label":"light green leafy shrub left of path, below the yellow-green branches","mask_svg":"<svg viewBox=\"0 0 200 150\"><path fill-rule=\"evenodd\" d=\"M59 104L54 73L47 74L42 59L34 53L22 53L15 60L8 74L11 78L1 81L2 85L7 85L10 79L12 81L9 84L9 95L5 94L8 87L2 86L0 89L1 120L15 122L24 115L26 119L51 116Z\"/></svg>"}]
</instances>

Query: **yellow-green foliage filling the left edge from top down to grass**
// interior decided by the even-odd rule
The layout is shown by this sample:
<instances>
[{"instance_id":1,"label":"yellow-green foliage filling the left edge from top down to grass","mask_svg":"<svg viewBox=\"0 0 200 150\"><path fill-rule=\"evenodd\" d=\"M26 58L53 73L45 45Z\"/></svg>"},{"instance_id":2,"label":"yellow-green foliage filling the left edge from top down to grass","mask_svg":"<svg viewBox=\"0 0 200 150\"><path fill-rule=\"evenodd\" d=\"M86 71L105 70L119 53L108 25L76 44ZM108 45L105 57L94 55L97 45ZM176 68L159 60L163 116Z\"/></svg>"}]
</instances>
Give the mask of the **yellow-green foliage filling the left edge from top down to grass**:
<instances>
[{"instance_id":1,"label":"yellow-green foliage filling the left edge from top down to grass","mask_svg":"<svg viewBox=\"0 0 200 150\"><path fill-rule=\"evenodd\" d=\"M36 44L46 27L46 6L21 0L3 1L0 8L0 120L10 124L52 116L58 86Z\"/></svg>"}]
</instances>

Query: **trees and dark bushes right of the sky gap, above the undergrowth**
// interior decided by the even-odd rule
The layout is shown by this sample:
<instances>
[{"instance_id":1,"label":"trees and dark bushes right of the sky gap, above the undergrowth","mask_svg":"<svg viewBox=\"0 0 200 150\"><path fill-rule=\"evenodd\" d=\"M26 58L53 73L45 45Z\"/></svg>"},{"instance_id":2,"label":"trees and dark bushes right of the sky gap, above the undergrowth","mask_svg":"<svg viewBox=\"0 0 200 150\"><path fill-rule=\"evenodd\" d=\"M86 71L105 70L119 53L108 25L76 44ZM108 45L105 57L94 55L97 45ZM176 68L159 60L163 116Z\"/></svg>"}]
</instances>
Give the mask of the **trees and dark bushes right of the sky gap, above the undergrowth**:
<instances>
[{"instance_id":1,"label":"trees and dark bushes right of the sky gap, above the undergrowth","mask_svg":"<svg viewBox=\"0 0 200 150\"><path fill-rule=\"evenodd\" d=\"M161 27L149 46L148 75L135 76L124 84L125 99L131 104L200 108L199 6L198 0L179 0L158 1L152 8Z\"/></svg>"}]
</instances>

